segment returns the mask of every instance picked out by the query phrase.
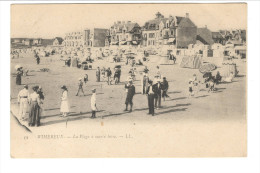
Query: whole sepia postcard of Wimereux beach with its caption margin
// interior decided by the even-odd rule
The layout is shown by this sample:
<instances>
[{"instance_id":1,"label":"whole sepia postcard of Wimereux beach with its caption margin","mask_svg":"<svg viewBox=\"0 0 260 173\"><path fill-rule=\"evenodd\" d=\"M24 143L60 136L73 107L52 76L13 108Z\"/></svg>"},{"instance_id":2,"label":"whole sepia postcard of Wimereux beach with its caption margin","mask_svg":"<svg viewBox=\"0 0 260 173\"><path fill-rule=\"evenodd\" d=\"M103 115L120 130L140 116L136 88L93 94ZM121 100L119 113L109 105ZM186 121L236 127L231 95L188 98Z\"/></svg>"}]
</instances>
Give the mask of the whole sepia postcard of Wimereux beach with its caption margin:
<instances>
[{"instance_id":1,"label":"whole sepia postcard of Wimereux beach with its caption margin","mask_svg":"<svg viewBox=\"0 0 260 173\"><path fill-rule=\"evenodd\" d=\"M12 158L247 157L246 3L10 9Z\"/></svg>"}]
</instances>

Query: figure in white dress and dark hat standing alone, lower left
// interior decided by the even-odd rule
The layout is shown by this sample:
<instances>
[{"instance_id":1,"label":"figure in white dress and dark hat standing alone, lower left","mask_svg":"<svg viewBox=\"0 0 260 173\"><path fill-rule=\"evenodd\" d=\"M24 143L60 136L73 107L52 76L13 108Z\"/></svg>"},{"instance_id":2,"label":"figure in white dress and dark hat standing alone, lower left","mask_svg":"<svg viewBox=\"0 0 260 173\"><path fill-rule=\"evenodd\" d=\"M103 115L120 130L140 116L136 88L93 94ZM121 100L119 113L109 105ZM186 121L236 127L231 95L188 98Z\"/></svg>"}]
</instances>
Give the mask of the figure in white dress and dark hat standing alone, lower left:
<instances>
[{"instance_id":1,"label":"figure in white dress and dark hat standing alone, lower left","mask_svg":"<svg viewBox=\"0 0 260 173\"><path fill-rule=\"evenodd\" d=\"M70 111L69 100L68 100L68 89L65 85L63 85L61 89L62 89L61 106L60 106L60 112L62 113L61 117L67 117Z\"/></svg>"}]
</instances>

